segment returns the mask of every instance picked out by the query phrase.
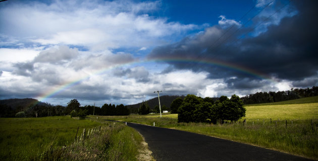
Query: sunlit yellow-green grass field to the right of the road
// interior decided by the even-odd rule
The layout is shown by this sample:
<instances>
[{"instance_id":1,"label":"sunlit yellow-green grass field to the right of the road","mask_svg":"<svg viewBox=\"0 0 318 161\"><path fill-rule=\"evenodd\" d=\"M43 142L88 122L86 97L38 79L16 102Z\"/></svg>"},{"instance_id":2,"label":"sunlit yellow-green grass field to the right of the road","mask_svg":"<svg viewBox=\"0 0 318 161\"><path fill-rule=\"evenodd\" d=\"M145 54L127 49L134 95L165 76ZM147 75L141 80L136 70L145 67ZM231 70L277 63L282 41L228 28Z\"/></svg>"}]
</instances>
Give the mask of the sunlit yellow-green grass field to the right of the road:
<instances>
[{"instance_id":1,"label":"sunlit yellow-green grass field to the right of the road","mask_svg":"<svg viewBox=\"0 0 318 161\"><path fill-rule=\"evenodd\" d=\"M159 127L221 137L318 160L318 103L316 98L292 100L294 104L281 102L273 105L246 106L246 117L243 118L247 120L245 126L242 122L223 125L178 123L177 114L165 114L162 118L159 114L98 116L98 118L151 126L154 122L155 126Z\"/></svg>"}]
</instances>

